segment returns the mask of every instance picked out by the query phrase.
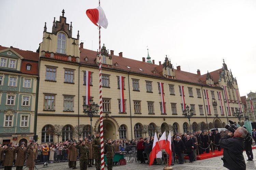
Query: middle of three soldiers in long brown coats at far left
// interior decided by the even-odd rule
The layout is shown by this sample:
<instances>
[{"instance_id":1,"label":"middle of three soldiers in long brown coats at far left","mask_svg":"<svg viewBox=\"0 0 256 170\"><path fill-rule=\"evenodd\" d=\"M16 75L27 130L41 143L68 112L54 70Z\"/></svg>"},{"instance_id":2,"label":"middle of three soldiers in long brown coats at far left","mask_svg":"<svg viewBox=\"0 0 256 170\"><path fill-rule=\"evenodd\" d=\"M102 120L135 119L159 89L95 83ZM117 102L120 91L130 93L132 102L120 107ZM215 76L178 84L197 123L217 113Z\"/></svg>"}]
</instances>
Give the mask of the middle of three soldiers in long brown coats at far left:
<instances>
[{"instance_id":1,"label":"middle of three soldiers in long brown coats at far left","mask_svg":"<svg viewBox=\"0 0 256 170\"><path fill-rule=\"evenodd\" d=\"M14 150L17 152L17 158L15 162L16 170L22 170L26 159L27 148L24 147L24 142L20 142L19 146Z\"/></svg>"}]
</instances>

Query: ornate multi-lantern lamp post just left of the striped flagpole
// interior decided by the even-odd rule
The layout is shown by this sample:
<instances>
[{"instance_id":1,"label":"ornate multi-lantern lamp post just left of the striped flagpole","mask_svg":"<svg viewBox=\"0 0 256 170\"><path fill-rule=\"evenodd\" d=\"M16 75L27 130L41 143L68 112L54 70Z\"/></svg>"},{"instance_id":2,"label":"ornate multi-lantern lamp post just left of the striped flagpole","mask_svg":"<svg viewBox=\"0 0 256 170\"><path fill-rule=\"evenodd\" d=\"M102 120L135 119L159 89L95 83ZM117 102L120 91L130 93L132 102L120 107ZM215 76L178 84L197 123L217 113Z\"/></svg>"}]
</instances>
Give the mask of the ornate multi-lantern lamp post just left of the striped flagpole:
<instances>
[{"instance_id":1,"label":"ornate multi-lantern lamp post just left of the striped flagpole","mask_svg":"<svg viewBox=\"0 0 256 170\"><path fill-rule=\"evenodd\" d=\"M93 121L93 116L98 114L99 107L100 106L98 105L98 103L95 104L95 102L91 98L89 100L89 104L84 103L84 105L83 105L84 114L86 114L90 117L91 122ZM92 133L93 133L93 129L91 126L91 134L90 135L93 135Z\"/></svg>"}]
</instances>

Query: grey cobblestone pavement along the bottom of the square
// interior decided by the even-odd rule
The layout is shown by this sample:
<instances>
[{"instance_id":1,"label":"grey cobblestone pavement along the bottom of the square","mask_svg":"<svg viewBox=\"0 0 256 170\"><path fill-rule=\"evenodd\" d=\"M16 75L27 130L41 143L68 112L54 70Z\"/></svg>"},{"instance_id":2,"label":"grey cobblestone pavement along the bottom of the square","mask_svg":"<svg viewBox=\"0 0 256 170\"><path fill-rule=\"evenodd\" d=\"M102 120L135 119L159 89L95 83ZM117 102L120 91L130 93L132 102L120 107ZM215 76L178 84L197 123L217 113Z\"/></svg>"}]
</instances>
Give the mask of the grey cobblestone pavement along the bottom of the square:
<instances>
[{"instance_id":1,"label":"grey cobblestone pavement along the bottom of the square","mask_svg":"<svg viewBox=\"0 0 256 170\"><path fill-rule=\"evenodd\" d=\"M253 155L254 155L254 160L253 161L247 161L247 156L245 154L245 151L243 152L244 158L245 158L245 163L246 163L246 170L255 170L256 169L256 149L253 149ZM174 163L173 169L175 170L184 170L184 169L189 169L189 170L227 170L227 168L223 167L223 161L221 160L222 156L217 156L213 158L208 158L208 159L203 159L203 160L197 160L194 163L188 163L187 162L184 164L177 164ZM68 162L61 162L61 163L53 163L53 164L48 164L49 166L46 168L43 168L43 164L38 164L36 165L38 170L70 170L72 168L68 168ZM76 162L76 167L79 170L79 161ZM165 165L151 165L148 167L147 164L139 164L139 163L129 163L127 162L126 165L115 165L113 166L113 170L163 170ZM4 168L0 168L0 170L3 170ZM16 167L12 168L13 170L16 169ZM28 168L25 168L25 170ZM107 167L104 168L107 170ZM89 167L87 170L95 170L95 167Z\"/></svg>"}]
</instances>

